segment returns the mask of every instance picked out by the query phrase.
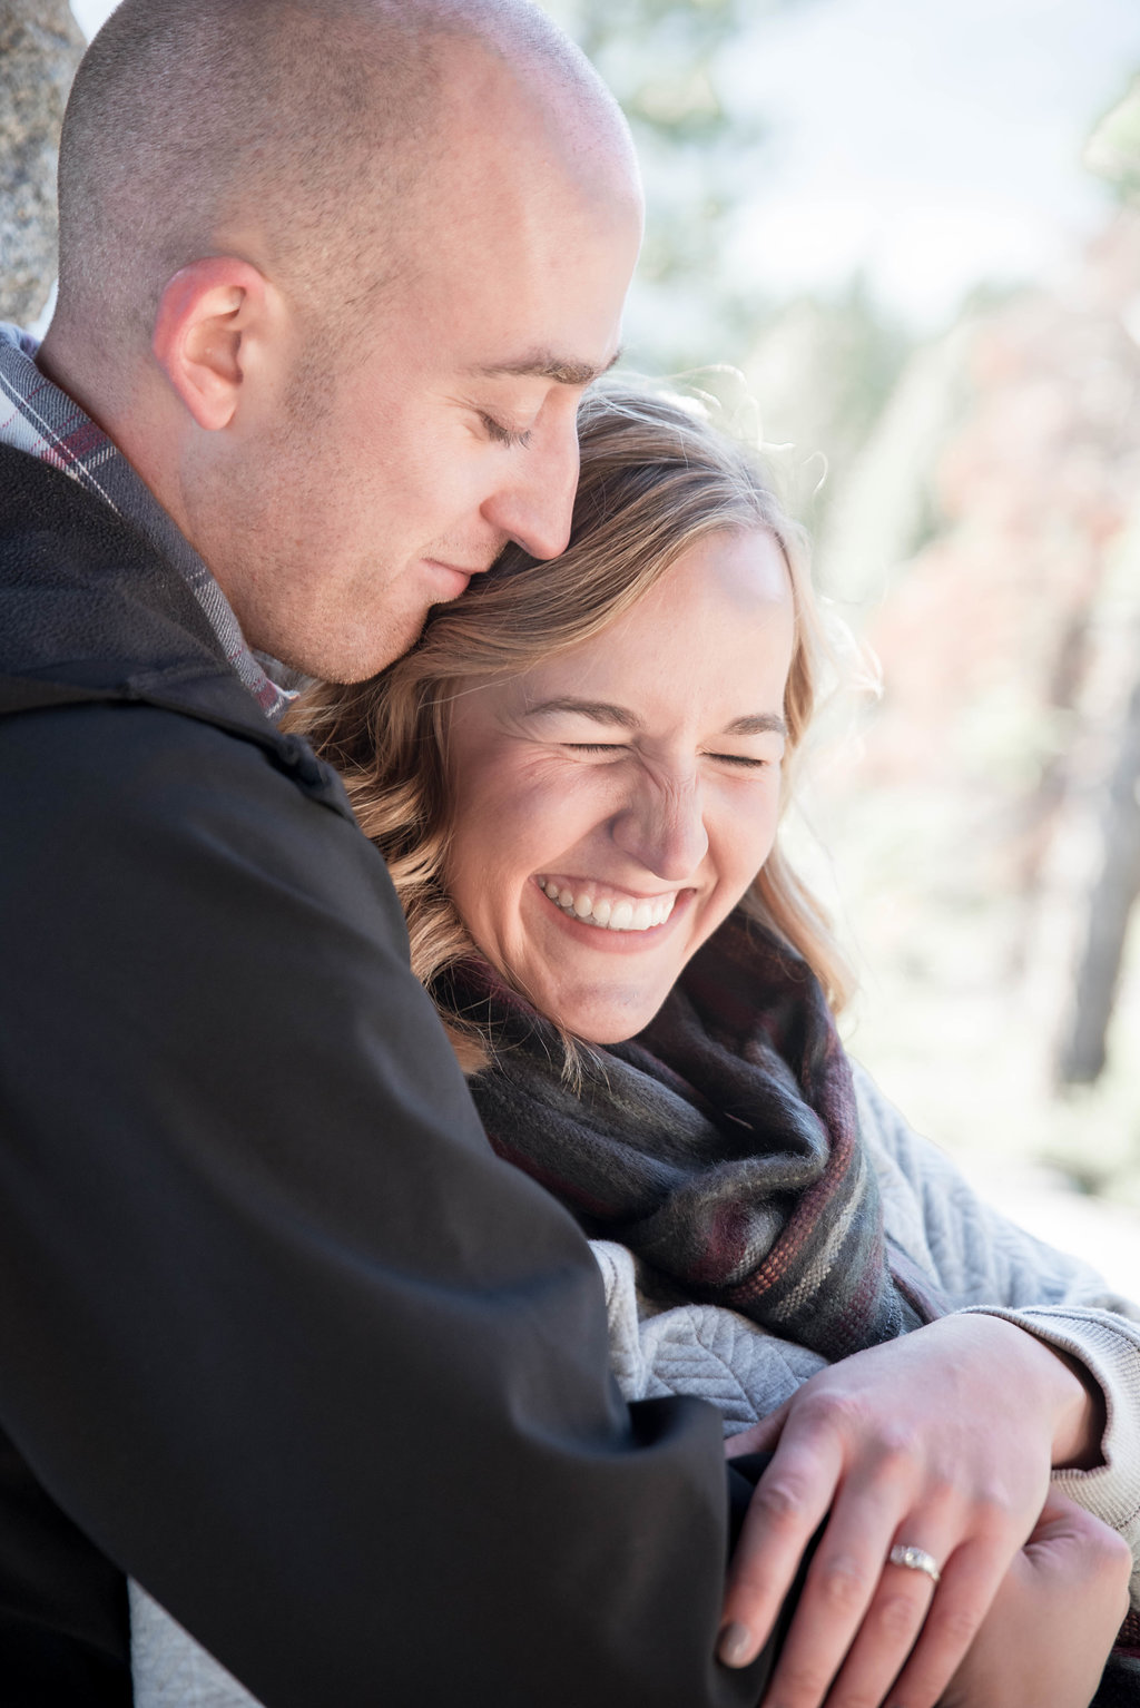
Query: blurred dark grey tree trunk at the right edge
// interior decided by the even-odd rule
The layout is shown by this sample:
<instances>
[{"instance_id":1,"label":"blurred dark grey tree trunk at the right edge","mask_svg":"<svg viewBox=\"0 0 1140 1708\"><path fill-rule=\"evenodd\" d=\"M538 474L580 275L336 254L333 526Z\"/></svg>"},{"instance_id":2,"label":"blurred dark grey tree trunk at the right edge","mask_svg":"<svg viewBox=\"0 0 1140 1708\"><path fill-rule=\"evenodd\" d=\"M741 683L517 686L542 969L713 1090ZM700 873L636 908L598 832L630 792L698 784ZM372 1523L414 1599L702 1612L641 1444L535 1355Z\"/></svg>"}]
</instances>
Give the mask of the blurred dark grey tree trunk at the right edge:
<instances>
[{"instance_id":1,"label":"blurred dark grey tree trunk at the right edge","mask_svg":"<svg viewBox=\"0 0 1140 1708\"><path fill-rule=\"evenodd\" d=\"M1058 1052L1061 1085L1091 1085L1104 1069L1128 915L1140 895L1140 681L1116 750L1104 811L1104 864L1089 897L1089 931L1068 1033Z\"/></svg>"}]
</instances>

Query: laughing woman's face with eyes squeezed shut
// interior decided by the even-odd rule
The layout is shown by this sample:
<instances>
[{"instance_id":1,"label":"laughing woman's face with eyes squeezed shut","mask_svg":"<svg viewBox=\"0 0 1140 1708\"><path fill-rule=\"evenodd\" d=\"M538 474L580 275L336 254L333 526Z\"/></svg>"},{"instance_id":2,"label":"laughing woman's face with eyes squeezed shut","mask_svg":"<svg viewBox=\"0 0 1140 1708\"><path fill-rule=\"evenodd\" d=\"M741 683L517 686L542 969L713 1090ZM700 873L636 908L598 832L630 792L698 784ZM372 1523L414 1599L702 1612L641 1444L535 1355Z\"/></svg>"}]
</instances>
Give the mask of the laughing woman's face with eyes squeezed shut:
<instances>
[{"instance_id":1,"label":"laughing woman's face with eyes squeezed shut","mask_svg":"<svg viewBox=\"0 0 1140 1708\"><path fill-rule=\"evenodd\" d=\"M577 1037L640 1032L768 857L792 647L780 545L717 533L596 639L457 697L447 886Z\"/></svg>"}]
</instances>

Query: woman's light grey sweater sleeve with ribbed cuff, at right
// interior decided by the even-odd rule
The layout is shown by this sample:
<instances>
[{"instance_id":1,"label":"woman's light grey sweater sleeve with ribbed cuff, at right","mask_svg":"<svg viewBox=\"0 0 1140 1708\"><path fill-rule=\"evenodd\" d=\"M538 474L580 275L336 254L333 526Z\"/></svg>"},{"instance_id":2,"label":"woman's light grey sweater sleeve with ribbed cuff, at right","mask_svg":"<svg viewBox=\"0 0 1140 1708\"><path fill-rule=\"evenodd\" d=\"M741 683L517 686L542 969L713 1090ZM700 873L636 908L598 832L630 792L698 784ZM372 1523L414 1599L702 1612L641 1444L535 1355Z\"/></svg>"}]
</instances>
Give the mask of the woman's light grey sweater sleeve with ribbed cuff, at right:
<instances>
[{"instance_id":1,"label":"woman's light grey sweater sleeve with ribbed cuff, at right","mask_svg":"<svg viewBox=\"0 0 1140 1708\"><path fill-rule=\"evenodd\" d=\"M1056 1471L1055 1481L1128 1541L1137 1559L1131 1599L1140 1606L1140 1312L1089 1264L983 1202L862 1069L857 1090L865 1138L886 1156L879 1179L887 1225L904 1230L910 1255L959 1308L1003 1317L1070 1353L1102 1389L1102 1464Z\"/></svg>"}]
</instances>

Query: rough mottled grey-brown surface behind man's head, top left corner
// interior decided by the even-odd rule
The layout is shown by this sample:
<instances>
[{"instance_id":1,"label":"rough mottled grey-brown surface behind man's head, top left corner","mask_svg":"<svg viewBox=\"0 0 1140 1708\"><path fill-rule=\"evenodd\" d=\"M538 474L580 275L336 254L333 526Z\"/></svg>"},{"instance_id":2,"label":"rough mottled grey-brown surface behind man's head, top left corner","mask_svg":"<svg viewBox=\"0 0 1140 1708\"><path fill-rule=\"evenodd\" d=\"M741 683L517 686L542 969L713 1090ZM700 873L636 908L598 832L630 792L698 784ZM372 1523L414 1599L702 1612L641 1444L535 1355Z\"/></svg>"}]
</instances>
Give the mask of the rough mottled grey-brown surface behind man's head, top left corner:
<instances>
[{"instance_id":1,"label":"rough mottled grey-brown surface behind man's head, top left corner","mask_svg":"<svg viewBox=\"0 0 1140 1708\"><path fill-rule=\"evenodd\" d=\"M51 290L60 125L82 51L67 0L0 0L0 319L36 319Z\"/></svg>"}]
</instances>

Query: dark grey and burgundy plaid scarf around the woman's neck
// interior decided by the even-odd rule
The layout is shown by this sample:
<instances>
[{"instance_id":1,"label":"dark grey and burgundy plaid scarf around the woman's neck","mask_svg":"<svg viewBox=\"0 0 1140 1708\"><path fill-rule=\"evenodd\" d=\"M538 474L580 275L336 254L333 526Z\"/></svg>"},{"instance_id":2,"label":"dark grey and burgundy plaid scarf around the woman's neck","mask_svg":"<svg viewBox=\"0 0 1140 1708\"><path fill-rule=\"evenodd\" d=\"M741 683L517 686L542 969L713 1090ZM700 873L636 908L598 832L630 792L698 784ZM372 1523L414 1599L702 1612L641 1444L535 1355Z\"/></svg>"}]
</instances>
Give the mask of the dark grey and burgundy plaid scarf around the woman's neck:
<instances>
[{"instance_id":1,"label":"dark grey and burgundy plaid scarf around the woman's neck","mask_svg":"<svg viewBox=\"0 0 1140 1708\"><path fill-rule=\"evenodd\" d=\"M824 994L742 914L637 1038L585 1056L577 1091L556 1028L485 962L439 996L490 1033L471 1091L498 1155L628 1245L662 1296L729 1305L833 1360L942 1315L887 1249Z\"/></svg>"}]
</instances>

